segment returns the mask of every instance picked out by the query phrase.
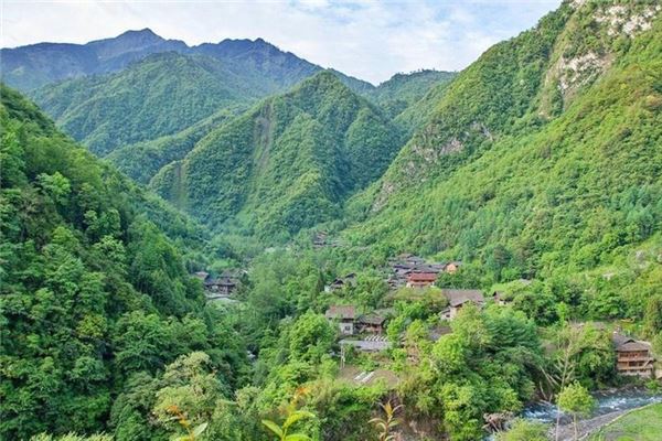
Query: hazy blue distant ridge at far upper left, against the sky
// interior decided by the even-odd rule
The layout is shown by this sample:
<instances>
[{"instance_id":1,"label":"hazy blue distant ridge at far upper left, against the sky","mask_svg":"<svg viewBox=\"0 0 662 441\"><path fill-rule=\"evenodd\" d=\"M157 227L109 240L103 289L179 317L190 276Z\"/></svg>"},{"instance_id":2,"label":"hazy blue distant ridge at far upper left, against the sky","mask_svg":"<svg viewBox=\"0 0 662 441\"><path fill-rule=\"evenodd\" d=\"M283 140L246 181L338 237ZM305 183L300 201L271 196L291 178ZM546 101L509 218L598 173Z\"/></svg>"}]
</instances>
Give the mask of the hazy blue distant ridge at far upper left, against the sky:
<instances>
[{"instance_id":1,"label":"hazy blue distant ridge at far upper left, against the sky","mask_svg":"<svg viewBox=\"0 0 662 441\"><path fill-rule=\"evenodd\" d=\"M164 40L143 29L87 44L39 43L2 49L2 80L28 92L67 78L119 71L147 55L186 47L184 42Z\"/></svg>"}]
</instances>

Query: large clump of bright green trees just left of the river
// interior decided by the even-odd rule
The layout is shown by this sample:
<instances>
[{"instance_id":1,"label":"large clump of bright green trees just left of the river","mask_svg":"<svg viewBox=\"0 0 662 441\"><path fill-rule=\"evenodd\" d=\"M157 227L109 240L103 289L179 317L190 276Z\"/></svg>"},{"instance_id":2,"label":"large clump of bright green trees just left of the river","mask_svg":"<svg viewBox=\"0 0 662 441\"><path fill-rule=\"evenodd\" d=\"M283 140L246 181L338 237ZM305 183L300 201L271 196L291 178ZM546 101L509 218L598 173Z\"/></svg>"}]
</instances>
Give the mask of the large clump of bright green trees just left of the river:
<instances>
[{"instance_id":1,"label":"large clump of bright green trees just left of the river","mask_svg":"<svg viewBox=\"0 0 662 441\"><path fill-rule=\"evenodd\" d=\"M405 409L441 421L451 440L473 440L483 413L517 411L531 398L542 351L533 322L508 308L465 306L451 326L418 345L419 367L406 372L399 396Z\"/></svg>"}]
</instances>

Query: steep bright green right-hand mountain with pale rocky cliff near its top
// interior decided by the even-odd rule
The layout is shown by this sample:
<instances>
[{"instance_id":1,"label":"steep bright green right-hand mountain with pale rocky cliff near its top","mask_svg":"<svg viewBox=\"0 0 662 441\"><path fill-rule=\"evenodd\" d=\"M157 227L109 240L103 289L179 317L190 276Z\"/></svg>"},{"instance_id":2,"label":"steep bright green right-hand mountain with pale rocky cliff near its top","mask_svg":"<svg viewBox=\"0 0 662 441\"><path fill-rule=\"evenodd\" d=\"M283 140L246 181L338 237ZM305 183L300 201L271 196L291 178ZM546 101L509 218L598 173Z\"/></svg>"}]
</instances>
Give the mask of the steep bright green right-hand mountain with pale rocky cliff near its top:
<instances>
[{"instance_id":1,"label":"steep bright green right-hand mountain with pale rocky cliff near its top","mask_svg":"<svg viewBox=\"0 0 662 441\"><path fill-rule=\"evenodd\" d=\"M565 2L490 49L352 201L364 220L348 236L496 280L567 277L659 238L660 9Z\"/></svg>"}]
</instances>

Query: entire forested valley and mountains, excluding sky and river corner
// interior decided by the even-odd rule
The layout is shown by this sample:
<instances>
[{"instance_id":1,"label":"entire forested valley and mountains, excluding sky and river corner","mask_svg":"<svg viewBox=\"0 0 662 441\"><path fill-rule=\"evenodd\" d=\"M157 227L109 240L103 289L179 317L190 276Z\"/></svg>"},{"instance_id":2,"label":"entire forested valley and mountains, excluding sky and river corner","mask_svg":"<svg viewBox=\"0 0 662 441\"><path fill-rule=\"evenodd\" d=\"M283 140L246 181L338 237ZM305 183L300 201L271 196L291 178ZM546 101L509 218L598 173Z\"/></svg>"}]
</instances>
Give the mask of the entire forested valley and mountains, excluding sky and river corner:
<instances>
[{"instance_id":1,"label":"entire forested valley and mountains, excluding sky and river corner","mask_svg":"<svg viewBox=\"0 0 662 441\"><path fill-rule=\"evenodd\" d=\"M260 39L2 50L0 438L542 441L659 395L661 10L378 86Z\"/></svg>"}]
</instances>

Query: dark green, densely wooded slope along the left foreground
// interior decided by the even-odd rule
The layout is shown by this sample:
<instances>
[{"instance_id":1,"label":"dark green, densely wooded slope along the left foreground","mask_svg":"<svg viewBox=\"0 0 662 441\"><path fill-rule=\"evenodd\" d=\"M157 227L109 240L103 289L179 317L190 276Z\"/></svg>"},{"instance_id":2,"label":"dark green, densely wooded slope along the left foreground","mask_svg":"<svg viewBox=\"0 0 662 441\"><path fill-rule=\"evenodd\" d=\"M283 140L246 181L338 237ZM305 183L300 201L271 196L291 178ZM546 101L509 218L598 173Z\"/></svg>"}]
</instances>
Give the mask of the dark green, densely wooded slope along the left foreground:
<instances>
[{"instance_id":1,"label":"dark green, densely wooded slope along the left foreground","mask_svg":"<svg viewBox=\"0 0 662 441\"><path fill-rule=\"evenodd\" d=\"M232 387L245 349L143 195L18 93L0 96L0 438L111 426L148 439L153 375L204 349Z\"/></svg>"}]
</instances>

